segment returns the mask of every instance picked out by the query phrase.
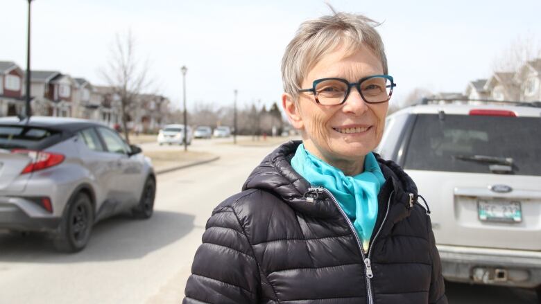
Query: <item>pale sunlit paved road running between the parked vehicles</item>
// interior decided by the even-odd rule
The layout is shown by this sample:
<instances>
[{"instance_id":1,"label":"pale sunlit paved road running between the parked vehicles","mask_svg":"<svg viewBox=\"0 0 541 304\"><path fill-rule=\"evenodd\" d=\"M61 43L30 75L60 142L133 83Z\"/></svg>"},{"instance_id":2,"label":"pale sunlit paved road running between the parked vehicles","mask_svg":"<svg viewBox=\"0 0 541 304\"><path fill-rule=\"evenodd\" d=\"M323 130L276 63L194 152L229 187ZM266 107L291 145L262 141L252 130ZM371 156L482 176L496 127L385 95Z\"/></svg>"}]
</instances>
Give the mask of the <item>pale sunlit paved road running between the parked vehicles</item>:
<instances>
[{"instance_id":1,"label":"pale sunlit paved road running between the parked vehicles","mask_svg":"<svg viewBox=\"0 0 541 304\"><path fill-rule=\"evenodd\" d=\"M0 303L180 303L212 208L273 149L227 141L194 141L191 150L221 159L160 175L150 220L101 222L80 253L57 253L43 235L0 233ZM447 295L456 304L538 303L531 291L502 287L449 283Z\"/></svg>"}]
</instances>

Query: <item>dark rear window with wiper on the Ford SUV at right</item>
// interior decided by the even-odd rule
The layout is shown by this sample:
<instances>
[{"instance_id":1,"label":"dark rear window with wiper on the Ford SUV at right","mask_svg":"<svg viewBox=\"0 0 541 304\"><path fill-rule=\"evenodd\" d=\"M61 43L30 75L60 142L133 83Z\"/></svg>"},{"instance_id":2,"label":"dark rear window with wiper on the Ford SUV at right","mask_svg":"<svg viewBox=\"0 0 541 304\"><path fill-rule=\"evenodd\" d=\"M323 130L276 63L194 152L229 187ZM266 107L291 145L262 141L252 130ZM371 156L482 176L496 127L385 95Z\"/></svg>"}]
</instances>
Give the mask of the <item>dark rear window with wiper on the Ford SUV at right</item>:
<instances>
[{"instance_id":1,"label":"dark rear window with wiper on the Ford SUV at right","mask_svg":"<svg viewBox=\"0 0 541 304\"><path fill-rule=\"evenodd\" d=\"M409 170L491 173L490 157L513 159L510 174L541 176L541 118L420 114L406 151Z\"/></svg>"}]
</instances>

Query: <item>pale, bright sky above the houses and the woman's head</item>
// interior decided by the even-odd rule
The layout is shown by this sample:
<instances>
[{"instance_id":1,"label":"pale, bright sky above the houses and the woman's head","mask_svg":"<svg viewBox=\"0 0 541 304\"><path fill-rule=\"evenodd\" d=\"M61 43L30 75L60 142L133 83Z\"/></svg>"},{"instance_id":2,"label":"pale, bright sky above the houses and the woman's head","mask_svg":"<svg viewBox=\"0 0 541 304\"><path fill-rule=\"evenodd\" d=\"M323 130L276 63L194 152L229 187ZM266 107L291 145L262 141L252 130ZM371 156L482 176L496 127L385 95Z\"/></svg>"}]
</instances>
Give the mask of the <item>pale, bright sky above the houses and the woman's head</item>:
<instances>
[{"instance_id":1,"label":"pale, bright sky above the houses and the woman's head","mask_svg":"<svg viewBox=\"0 0 541 304\"><path fill-rule=\"evenodd\" d=\"M492 63L518 37L541 39L541 1L329 1L384 23L393 102L415 87L463 91L487 78ZM26 69L26 1L0 0L0 60ZM151 62L155 84L173 104L231 105L280 101L280 60L304 20L329 14L324 1L35 0L33 69L58 70L105 84L98 73L115 33L128 29Z\"/></svg>"}]
</instances>

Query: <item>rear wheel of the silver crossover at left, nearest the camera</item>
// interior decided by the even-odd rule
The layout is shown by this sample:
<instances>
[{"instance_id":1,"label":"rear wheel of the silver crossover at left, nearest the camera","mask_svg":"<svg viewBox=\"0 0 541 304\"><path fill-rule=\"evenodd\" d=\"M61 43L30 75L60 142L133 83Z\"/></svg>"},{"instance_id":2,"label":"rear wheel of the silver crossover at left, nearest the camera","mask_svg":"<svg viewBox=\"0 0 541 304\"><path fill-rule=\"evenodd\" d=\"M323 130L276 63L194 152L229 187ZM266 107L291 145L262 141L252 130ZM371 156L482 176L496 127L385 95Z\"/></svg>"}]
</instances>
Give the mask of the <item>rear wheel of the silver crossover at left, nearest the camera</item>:
<instances>
[{"instance_id":1,"label":"rear wheel of the silver crossover at left, nearest the camera","mask_svg":"<svg viewBox=\"0 0 541 304\"><path fill-rule=\"evenodd\" d=\"M94 224L92 202L85 193L78 193L68 205L62 217L59 231L54 238L56 249L65 252L78 252L85 248Z\"/></svg>"}]
</instances>

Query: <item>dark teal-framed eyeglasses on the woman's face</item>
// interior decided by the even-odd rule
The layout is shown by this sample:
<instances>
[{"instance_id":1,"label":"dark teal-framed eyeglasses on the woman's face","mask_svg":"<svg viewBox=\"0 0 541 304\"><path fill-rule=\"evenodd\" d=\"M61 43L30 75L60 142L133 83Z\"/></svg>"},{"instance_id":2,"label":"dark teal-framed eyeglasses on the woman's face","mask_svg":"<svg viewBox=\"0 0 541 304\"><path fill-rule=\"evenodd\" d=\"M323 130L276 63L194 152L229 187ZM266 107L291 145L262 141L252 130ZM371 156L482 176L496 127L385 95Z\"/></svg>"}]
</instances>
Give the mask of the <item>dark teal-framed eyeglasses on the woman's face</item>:
<instances>
[{"instance_id":1,"label":"dark teal-framed eyeglasses on the woman's face","mask_svg":"<svg viewBox=\"0 0 541 304\"><path fill-rule=\"evenodd\" d=\"M388 102L396 87L390 75L372 75L352 82L342 78L322 78L314 80L311 89L299 92L312 92L316 102L321 105L341 105L350 95L351 87L356 87L361 98L367 103Z\"/></svg>"}]
</instances>

